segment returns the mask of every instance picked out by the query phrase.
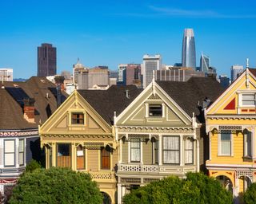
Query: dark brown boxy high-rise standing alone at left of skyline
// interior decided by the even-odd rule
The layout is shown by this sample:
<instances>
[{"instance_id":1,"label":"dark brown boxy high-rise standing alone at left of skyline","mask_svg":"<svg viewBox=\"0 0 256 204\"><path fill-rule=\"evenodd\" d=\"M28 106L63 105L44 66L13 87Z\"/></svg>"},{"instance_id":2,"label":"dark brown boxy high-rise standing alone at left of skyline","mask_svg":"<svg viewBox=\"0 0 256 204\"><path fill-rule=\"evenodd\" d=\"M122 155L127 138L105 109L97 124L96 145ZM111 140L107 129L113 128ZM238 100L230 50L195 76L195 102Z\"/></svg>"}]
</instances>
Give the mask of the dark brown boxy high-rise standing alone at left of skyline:
<instances>
[{"instance_id":1,"label":"dark brown boxy high-rise standing alone at left of skyline","mask_svg":"<svg viewBox=\"0 0 256 204\"><path fill-rule=\"evenodd\" d=\"M56 48L43 43L38 47L38 77L56 75Z\"/></svg>"}]
</instances>

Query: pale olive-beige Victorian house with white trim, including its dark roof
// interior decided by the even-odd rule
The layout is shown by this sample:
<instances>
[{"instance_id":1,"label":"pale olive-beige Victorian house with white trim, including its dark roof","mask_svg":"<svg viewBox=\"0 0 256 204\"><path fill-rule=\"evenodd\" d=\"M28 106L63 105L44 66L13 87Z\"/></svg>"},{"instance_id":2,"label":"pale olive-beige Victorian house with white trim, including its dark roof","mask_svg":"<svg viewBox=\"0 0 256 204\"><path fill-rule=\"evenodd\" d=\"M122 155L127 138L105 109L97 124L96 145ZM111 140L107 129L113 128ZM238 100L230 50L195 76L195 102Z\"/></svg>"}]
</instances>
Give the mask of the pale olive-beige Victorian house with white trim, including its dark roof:
<instances>
[{"instance_id":1,"label":"pale olive-beige Victorian house with white trim, including its dark roof","mask_svg":"<svg viewBox=\"0 0 256 204\"><path fill-rule=\"evenodd\" d=\"M168 175L204 170L203 110L222 92L214 78L153 81L114 116L118 142L118 203L130 189ZM206 143L206 145L205 145Z\"/></svg>"}]
</instances>

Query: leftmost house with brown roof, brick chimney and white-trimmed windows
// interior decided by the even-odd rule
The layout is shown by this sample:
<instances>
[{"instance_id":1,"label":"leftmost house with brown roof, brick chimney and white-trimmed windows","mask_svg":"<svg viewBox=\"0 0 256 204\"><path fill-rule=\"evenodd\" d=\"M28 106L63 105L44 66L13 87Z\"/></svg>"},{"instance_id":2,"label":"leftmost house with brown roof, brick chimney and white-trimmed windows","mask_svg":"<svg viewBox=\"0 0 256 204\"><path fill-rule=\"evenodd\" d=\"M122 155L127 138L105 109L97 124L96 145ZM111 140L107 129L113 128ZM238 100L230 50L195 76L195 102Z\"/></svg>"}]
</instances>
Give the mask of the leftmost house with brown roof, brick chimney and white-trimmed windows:
<instances>
[{"instance_id":1,"label":"leftmost house with brown roof, brick chimney and white-trimmed windows","mask_svg":"<svg viewBox=\"0 0 256 204\"><path fill-rule=\"evenodd\" d=\"M38 124L57 109L56 86L45 77L4 82L0 89L0 190L4 194L31 159L41 160ZM55 95L55 96L54 96ZM61 95L62 100L65 96Z\"/></svg>"}]
</instances>

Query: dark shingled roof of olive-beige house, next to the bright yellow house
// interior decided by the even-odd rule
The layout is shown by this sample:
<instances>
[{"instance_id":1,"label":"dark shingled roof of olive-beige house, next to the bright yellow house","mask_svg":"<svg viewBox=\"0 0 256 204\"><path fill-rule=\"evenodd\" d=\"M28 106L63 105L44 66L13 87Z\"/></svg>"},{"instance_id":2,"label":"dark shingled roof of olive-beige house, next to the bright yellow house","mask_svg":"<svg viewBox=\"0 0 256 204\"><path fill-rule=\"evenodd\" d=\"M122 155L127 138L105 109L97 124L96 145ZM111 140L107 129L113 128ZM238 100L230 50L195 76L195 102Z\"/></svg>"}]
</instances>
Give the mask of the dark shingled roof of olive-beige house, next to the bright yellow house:
<instances>
[{"instance_id":1,"label":"dark shingled roof of olive-beige house, next to the bright yellow house","mask_svg":"<svg viewBox=\"0 0 256 204\"><path fill-rule=\"evenodd\" d=\"M208 98L213 103L225 90L212 77L191 77L186 82L158 80L157 84L162 87L187 115L192 117L194 112L199 122L204 122L202 112L203 100Z\"/></svg>"}]
</instances>

